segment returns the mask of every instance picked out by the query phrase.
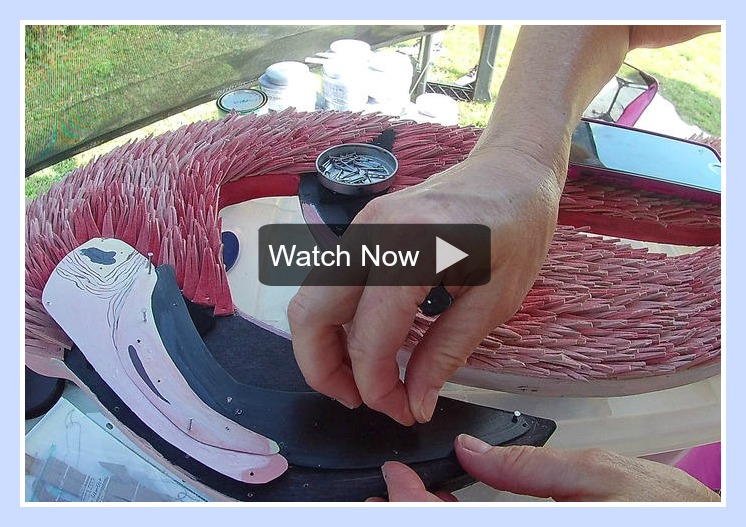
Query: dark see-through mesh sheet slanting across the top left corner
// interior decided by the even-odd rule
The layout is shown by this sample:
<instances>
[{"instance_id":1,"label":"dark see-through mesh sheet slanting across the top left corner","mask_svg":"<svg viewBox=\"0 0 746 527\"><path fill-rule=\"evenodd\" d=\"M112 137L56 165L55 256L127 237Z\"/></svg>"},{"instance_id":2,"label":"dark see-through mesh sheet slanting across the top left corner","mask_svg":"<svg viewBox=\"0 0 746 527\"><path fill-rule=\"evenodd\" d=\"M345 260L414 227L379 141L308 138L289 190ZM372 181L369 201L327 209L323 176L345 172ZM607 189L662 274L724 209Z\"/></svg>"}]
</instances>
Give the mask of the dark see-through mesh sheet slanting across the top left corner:
<instances>
[{"instance_id":1,"label":"dark see-through mesh sheet slanting across the top left corner","mask_svg":"<svg viewBox=\"0 0 746 527\"><path fill-rule=\"evenodd\" d=\"M255 82L343 38L373 48L424 25L26 26L26 175Z\"/></svg>"}]
</instances>

